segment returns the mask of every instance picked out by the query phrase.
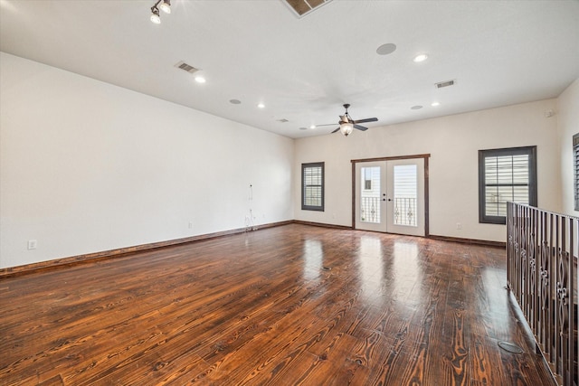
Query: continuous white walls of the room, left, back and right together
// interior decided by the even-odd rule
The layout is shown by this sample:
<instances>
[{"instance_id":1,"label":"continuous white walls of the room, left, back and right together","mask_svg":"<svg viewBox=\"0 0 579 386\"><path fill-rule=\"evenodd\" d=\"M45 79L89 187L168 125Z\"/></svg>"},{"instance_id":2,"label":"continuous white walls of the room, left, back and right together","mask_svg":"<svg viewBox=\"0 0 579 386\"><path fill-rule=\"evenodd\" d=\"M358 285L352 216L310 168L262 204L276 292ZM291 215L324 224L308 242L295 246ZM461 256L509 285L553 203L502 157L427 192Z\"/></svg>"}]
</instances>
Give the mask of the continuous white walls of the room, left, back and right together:
<instances>
[{"instance_id":1,"label":"continuous white walls of the room, left, back and right together","mask_svg":"<svg viewBox=\"0 0 579 386\"><path fill-rule=\"evenodd\" d=\"M0 52L0 113L0 268L242 228L250 207L258 225L349 226L350 160L369 157L432 154L431 234L505 240L504 226L478 222L479 149L536 145L539 206L577 215L570 141L579 80L559 99L294 145ZM301 211L300 165L318 161L326 212Z\"/></svg>"}]
</instances>

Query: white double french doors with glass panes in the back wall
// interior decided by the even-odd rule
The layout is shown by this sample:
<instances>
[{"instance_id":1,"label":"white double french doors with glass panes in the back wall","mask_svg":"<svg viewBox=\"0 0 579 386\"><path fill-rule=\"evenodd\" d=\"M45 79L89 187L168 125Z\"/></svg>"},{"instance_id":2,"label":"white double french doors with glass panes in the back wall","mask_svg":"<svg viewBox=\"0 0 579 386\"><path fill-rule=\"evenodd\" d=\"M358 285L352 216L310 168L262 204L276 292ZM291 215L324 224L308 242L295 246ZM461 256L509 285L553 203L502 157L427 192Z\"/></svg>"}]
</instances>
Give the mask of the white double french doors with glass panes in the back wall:
<instances>
[{"instance_id":1,"label":"white double french doors with glass panes in the back wall","mask_svg":"<svg viewBox=\"0 0 579 386\"><path fill-rule=\"evenodd\" d=\"M358 230L424 236L424 158L357 162Z\"/></svg>"}]
</instances>

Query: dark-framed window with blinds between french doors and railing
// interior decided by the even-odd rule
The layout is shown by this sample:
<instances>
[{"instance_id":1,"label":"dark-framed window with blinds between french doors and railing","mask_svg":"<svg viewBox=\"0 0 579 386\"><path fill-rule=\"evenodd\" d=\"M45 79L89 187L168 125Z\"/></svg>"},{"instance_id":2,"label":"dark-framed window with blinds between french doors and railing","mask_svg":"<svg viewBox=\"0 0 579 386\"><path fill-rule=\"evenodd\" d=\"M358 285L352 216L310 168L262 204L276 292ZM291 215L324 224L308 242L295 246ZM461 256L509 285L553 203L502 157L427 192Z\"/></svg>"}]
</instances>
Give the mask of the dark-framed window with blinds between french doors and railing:
<instances>
[{"instance_id":1,"label":"dark-framed window with blinds between french doors and railing","mask_svg":"<svg viewBox=\"0 0 579 386\"><path fill-rule=\"evenodd\" d=\"M506 223L507 202L536 206L536 146L479 150L479 222Z\"/></svg>"}]
</instances>

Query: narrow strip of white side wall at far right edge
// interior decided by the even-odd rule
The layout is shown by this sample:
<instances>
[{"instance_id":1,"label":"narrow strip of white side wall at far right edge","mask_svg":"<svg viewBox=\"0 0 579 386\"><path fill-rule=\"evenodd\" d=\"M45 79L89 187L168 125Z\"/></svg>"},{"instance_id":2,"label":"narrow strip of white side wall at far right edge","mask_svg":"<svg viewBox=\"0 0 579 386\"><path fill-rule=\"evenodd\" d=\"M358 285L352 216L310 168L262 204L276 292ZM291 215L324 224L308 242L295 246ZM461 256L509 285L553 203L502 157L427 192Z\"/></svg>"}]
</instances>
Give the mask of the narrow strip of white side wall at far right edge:
<instances>
[{"instance_id":1,"label":"narrow strip of white side wall at far right edge","mask_svg":"<svg viewBox=\"0 0 579 386\"><path fill-rule=\"evenodd\" d=\"M579 79L557 99L556 117L561 148L562 212L579 216L574 210L573 136L579 133Z\"/></svg>"}]
</instances>

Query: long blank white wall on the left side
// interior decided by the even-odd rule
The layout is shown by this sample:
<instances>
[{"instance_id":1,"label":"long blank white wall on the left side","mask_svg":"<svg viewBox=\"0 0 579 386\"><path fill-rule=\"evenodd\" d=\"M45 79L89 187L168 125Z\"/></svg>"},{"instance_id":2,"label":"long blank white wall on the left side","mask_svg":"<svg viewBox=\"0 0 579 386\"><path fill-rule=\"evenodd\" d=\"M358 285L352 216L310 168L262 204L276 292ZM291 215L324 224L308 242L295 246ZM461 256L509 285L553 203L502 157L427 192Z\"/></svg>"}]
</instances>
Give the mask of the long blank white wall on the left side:
<instances>
[{"instance_id":1,"label":"long blank white wall on the left side","mask_svg":"<svg viewBox=\"0 0 579 386\"><path fill-rule=\"evenodd\" d=\"M293 219L291 139L0 55L0 268Z\"/></svg>"}]
</instances>

